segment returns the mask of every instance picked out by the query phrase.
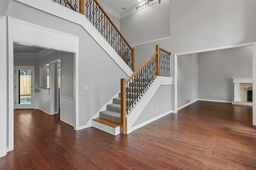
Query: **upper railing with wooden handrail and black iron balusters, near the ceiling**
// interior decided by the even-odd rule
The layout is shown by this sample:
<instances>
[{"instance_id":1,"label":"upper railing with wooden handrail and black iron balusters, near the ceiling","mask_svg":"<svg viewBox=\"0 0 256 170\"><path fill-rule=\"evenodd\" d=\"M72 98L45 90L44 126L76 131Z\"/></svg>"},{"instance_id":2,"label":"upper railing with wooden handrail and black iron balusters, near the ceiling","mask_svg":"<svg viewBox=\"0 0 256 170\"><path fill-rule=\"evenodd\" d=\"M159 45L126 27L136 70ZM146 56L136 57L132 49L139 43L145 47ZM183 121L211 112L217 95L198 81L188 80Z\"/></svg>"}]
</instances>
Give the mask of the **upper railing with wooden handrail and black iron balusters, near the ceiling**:
<instances>
[{"instance_id":1,"label":"upper railing with wooden handrail and black iron balusters, near the ceiling","mask_svg":"<svg viewBox=\"0 0 256 170\"><path fill-rule=\"evenodd\" d=\"M135 70L135 50L130 46L97 0L54 0L54 2L76 12L79 9L79 13L88 18L132 71Z\"/></svg>"}]
</instances>

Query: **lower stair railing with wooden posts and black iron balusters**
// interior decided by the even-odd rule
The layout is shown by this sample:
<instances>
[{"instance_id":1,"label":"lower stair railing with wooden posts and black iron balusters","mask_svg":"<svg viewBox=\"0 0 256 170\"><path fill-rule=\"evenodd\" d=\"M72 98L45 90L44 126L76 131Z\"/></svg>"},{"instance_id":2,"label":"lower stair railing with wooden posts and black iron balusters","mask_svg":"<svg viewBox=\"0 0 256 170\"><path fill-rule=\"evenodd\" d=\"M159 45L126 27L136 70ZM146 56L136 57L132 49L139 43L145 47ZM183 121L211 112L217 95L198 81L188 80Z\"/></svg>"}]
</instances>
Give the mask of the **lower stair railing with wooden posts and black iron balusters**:
<instances>
[{"instance_id":1,"label":"lower stair railing with wooden posts and black iron balusters","mask_svg":"<svg viewBox=\"0 0 256 170\"><path fill-rule=\"evenodd\" d=\"M156 45L156 52L127 80L121 79L121 133L126 134L126 114L143 96L156 76L170 76L170 55Z\"/></svg>"}]
</instances>

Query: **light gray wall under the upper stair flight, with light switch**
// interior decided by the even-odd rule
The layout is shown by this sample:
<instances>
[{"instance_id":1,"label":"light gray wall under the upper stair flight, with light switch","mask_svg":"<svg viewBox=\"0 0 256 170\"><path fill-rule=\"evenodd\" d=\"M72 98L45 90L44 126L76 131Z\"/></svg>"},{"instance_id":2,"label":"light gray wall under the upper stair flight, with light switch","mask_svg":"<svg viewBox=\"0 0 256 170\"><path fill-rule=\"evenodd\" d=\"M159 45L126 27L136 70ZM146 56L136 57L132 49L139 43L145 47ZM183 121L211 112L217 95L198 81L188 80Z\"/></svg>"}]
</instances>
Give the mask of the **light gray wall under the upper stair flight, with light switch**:
<instances>
[{"instance_id":1,"label":"light gray wall under the upper stair flight, with light switch","mask_svg":"<svg viewBox=\"0 0 256 170\"><path fill-rule=\"evenodd\" d=\"M10 1L7 15L79 37L79 126L86 125L120 90L120 78L128 77L80 25L15 1Z\"/></svg>"}]
</instances>

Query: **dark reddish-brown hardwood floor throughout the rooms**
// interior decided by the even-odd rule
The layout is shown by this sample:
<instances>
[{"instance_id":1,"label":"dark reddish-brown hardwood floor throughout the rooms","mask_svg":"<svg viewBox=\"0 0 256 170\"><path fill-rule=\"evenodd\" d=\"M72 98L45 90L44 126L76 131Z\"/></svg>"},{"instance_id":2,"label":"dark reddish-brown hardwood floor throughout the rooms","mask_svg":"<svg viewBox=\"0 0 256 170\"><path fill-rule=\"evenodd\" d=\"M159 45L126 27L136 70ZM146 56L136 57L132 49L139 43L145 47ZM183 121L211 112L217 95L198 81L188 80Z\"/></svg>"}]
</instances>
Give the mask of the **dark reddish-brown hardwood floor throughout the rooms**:
<instances>
[{"instance_id":1,"label":"dark reddish-brown hardwood floor throughout the rooms","mask_svg":"<svg viewBox=\"0 0 256 170\"><path fill-rule=\"evenodd\" d=\"M256 169L252 106L198 101L128 135L80 131L58 115L14 111L0 169Z\"/></svg>"}]
</instances>

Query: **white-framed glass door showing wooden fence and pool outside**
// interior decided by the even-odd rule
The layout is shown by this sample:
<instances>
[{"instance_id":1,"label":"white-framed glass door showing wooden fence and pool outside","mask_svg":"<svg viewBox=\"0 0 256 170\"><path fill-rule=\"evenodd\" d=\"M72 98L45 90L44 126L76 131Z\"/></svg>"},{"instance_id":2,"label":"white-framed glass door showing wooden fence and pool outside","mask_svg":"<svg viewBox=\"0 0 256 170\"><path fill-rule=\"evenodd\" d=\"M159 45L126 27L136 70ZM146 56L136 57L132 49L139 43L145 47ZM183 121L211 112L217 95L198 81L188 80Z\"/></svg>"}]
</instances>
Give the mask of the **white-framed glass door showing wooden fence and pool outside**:
<instances>
[{"instance_id":1,"label":"white-framed glass door showing wooden fence and pool outside","mask_svg":"<svg viewBox=\"0 0 256 170\"><path fill-rule=\"evenodd\" d=\"M34 108L34 67L17 66L15 69L15 108Z\"/></svg>"}]
</instances>

